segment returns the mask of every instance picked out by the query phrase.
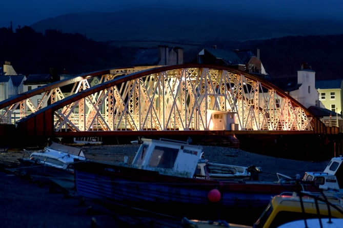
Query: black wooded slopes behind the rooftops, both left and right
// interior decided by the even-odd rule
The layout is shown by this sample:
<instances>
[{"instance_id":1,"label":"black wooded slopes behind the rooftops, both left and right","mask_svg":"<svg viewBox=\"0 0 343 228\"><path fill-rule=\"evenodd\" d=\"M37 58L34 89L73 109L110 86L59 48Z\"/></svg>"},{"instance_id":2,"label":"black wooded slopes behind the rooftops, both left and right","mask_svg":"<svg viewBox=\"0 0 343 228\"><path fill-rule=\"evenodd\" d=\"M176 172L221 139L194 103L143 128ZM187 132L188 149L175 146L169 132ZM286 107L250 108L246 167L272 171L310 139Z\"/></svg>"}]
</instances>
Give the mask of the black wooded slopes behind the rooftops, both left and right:
<instances>
[{"instance_id":1,"label":"black wooded slopes behind the rooftops, both left and right","mask_svg":"<svg viewBox=\"0 0 343 228\"><path fill-rule=\"evenodd\" d=\"M343 78L343 35L287 36L247 42L209 40L194 50L213 44L218 49L260 49L261 61L271 77L296 76L301 64L308 63L317 79ZM138 47L96 42L79 33L50 29L42 34L28 26L15 32L0 28L0 66L10 61L17 73L25 75L49 73L51 69L58 74L79 74L129 67L137 50ZM198 51L185 50L185 59L193 59Z\"/></svg>"}]
</instances>

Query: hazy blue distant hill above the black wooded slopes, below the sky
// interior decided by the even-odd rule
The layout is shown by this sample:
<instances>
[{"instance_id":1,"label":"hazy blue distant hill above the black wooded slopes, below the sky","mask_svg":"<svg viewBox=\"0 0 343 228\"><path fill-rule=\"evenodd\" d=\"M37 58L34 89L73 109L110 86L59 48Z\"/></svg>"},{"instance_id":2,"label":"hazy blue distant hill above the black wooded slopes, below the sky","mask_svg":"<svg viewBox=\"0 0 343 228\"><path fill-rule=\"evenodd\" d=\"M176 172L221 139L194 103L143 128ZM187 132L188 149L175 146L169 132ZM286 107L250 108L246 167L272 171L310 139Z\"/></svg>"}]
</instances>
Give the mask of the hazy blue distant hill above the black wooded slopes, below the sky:
<instances>
[{"instance_id":1,"label":"hazy blue distant hill above the black wooded slopes, below the sky","mask_svg":"<svg viewBox=\"0 0 343 228\"><path fill-rule=\"evenodd\" d=\"M243 9L133 8L118 12L88 12L47 18L31 25L37 32L57 29L87 38L127 46L132 41L199 44L207 41L270 39L289 35L343 34L343 23L313 18L272 19ZM147 43L146 43L147 44Z\"/></svg>"}]
</instances>

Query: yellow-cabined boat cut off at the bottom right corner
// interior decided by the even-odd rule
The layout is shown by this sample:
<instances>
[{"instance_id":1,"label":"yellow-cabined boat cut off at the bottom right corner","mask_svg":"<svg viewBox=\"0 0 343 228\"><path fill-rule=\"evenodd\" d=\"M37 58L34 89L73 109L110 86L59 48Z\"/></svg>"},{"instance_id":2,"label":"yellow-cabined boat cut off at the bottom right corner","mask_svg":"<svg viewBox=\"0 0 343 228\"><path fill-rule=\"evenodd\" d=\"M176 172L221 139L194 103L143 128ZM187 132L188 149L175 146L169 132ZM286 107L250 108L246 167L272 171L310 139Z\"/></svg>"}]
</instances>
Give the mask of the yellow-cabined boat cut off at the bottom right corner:
<instances>
[{"instance_id":1,"label":"yellow-cabined boat cut off at the bottom right corner","mask_svg":"<svg viewBox=\"0 0 343 228\"><path fill-rule=\"evenodd\" d=\"M230 220L228 220L230 221ZM249 225L217 220L183 218L181 224L189 227L343 227L342 198L325 193L284 192L271 198L259 218Z\"/></svg>"}]
</instances>

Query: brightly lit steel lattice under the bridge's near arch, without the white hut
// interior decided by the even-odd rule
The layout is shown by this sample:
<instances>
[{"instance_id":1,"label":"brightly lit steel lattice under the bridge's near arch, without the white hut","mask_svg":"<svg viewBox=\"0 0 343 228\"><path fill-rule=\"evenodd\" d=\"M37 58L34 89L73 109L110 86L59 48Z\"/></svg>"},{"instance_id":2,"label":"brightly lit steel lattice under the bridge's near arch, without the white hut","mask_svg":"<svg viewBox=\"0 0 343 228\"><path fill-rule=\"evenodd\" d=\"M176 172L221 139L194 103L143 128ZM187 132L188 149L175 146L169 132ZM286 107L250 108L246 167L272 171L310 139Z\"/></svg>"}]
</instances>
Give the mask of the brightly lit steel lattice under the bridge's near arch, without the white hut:
<instances>
[{"instance_id":1,"label":"brightly lit steel lattice under the bridge's near arch, without the white hut","mask_svg":"<svg viewBox=\"0 0 343 228\"><path fill-rule=\"evenodd\" d=\"M133 79L54 111L54 131L212 130L209 111L233 114L238 130L313 130L312 116L297 101L244 72L178 66L136 78L134 72L102 75L102 82L123 74ZM79 85L78 92L92 90Z\"/></svg>"}]
</instances>

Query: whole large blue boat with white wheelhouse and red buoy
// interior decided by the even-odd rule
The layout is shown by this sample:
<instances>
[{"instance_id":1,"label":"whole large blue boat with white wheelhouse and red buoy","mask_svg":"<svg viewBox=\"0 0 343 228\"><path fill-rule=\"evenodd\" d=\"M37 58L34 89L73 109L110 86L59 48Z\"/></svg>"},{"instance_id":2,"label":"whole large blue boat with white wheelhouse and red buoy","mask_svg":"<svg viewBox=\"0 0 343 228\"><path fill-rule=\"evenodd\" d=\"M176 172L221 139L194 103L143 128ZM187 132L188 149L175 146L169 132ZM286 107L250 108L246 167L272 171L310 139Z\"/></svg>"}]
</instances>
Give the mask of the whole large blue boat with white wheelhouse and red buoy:
<instances>
[{"instance_id":1,"label":"whole large blue boat with white wheelhouse and red buoy","mask_svg":"<svg viewBox=\"0 0 343 228\"><path fill-rule=\"evenodd\" d=\"M196 178L202 147L165 139L142 141L131 165L75 163L78 195L190 218L232 219L249 210L253 222L272 196L302 188L294 181Z\"/></svg>"}]
</instances>

